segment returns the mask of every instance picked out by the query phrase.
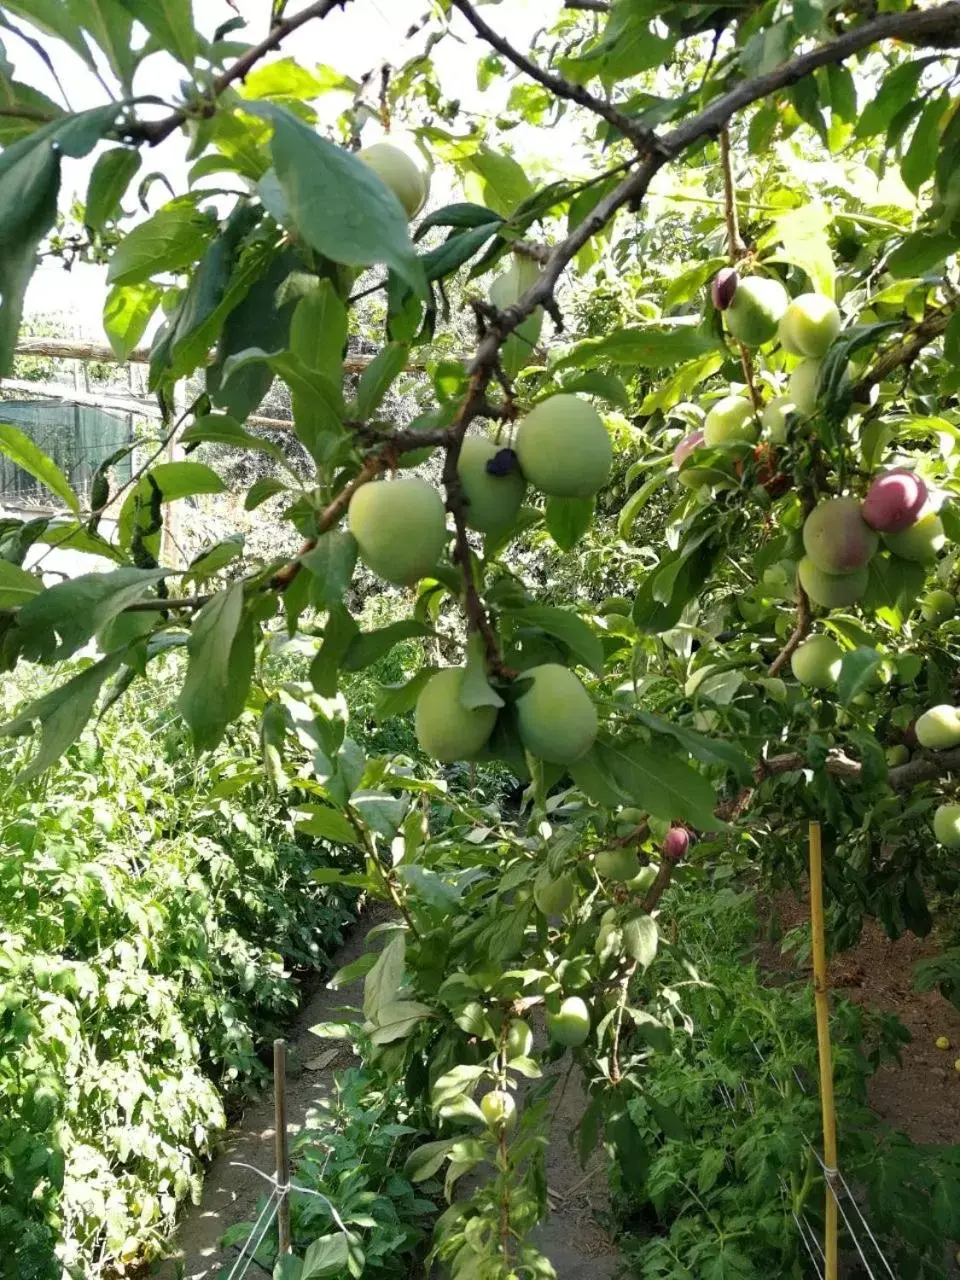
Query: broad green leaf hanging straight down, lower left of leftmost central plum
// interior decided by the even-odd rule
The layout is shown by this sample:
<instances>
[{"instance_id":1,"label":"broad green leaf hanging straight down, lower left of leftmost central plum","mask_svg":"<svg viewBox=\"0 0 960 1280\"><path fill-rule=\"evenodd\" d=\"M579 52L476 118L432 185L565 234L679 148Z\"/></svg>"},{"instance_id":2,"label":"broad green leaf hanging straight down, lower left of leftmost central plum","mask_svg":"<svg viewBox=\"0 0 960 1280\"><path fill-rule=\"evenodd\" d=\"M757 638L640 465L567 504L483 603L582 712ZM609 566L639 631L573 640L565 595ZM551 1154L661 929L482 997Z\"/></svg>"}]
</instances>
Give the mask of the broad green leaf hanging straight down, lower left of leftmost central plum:
<instances>
[{"instance_id":1,"label":"broad green leaf hanging straight down, lower left of leftmost central plum","mask_svg":"<svg viewBox=\"0 0 960 1280\"><path fill-rule=\"evenodd\" d=\"M175 465L175 463L174 463ZM177 705L198 751L218 745L243 708L253 667L243 625L243 584L219 591L197 613L187 641L189 664Z\"/></svg>"}]
</instances>

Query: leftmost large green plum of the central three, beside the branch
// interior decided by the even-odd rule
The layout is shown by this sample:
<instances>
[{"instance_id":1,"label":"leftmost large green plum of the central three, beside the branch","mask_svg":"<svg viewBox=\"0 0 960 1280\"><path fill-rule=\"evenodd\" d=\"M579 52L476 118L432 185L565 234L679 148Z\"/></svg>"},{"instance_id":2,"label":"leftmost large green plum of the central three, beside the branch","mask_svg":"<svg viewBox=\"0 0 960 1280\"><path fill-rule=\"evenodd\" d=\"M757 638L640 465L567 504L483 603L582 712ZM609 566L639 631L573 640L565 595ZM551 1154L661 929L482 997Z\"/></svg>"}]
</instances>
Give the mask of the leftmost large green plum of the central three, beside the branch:
<instances>
[{"instance_id":1,"label":"leftmost large green plum of the central three, beside the branch","mask_svg":"<svg viewBox=\"0 0 960 1280\"><path fill-rule=\"evenodd\" d=\"M426 480L379 480L361 485L347 517L360 558L397 586L419 582L447 541L443 499Z\"/></svg>"}]
</instances>

